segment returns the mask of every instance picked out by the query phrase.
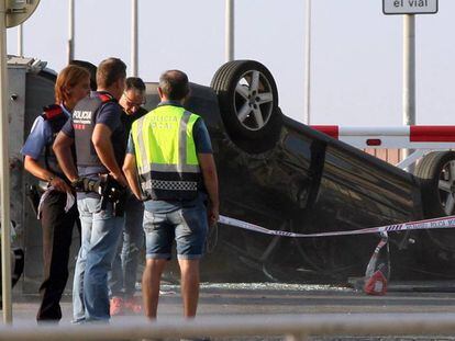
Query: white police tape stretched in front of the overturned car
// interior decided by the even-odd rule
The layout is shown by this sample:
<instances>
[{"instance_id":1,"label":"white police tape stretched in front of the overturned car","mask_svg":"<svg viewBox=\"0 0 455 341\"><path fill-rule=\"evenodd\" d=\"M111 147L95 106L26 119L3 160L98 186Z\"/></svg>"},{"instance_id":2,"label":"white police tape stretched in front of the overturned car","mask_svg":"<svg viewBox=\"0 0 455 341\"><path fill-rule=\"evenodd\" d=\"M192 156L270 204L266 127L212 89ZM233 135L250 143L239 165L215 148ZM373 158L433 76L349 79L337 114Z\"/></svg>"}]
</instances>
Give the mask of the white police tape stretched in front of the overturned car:
<instances>
[{"instance_id":1,"label":"white police tape stretched in front of the overturned car","mask_svg":"<svg viewBox=\"0 0 455 341\"><path fill-rule=\"evenodd\" d=\"M222 216L222 215L220 215L220 218L218 221L221 224L240 227L240 228L251 230L251 231L262 232L266 235L281 236L281 237L292 237L292 238L365 235L365 234L395 232L395 231L404 231L404 230L414 230L414 229L434 229L434 228L454 228L455 227L455 216L386 225L386 226L379 226L379 227L368 227L368 228L362 228L357 230L330 231L330 232L320 232L320 234L295 234L295 232L288 232L288 231L281 231L281 230L271 230L271 229L267 229L267 228L264 228L255 224L246 223L243 220L230 218L230 217Z\"/></svg>"}]
</instances>

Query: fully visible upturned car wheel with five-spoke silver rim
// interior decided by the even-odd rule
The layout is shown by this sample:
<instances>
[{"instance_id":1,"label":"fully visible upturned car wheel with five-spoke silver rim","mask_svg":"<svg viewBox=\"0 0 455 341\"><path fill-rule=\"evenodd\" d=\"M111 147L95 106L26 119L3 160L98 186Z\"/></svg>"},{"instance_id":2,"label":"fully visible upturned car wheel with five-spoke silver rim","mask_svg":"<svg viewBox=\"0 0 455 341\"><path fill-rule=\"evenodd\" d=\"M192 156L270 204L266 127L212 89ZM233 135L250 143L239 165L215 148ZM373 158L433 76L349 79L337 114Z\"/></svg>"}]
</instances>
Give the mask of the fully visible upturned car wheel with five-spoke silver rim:
<instances>
[{"instance_id":1,"label":"fully visible upturned car wheel with five-spoke silver rim","mask_svg":"<svg viewBox=\"0 0 455 341\"><path fill-rule=\"evenodd\" d=\"M254 60L234 60L213 76L228 135L235 141L277 139L281 127L278 91L270 71Z\"/></svg>"}]
</instances>

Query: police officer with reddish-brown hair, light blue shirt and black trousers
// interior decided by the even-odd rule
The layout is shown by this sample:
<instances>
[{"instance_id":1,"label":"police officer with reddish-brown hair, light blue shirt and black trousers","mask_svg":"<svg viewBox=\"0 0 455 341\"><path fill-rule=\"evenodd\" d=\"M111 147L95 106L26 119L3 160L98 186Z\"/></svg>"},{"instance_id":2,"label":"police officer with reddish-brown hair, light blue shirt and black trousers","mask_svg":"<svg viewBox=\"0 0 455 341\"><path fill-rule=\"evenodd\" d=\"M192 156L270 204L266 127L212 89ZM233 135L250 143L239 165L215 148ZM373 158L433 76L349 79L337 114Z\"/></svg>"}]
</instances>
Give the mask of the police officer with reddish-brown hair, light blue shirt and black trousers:
<instances>
[{"instance_id":1,"label":"police officer with reddish-brown hair, light blue shirt and black trousers","mask_svg":"<svg viewBox=\"0 0 455 341\"><path fill-rule=\"evenodd\" d=\"M43 229L44 282L40 287L38 321L60 320L60 298L68 280L68 258L73 227L78 217L76 205L68 211L66 193L71 193L52 150L55 136L71 115L76 103L90 91L90 75L78 66L67 66L57 76L55 103L44 109L22 147L25 169L47 184L48 193L41 205ZM71 150L69 157L71 157ZM41 162L42 161L42 162Z\"/></svg>"}]
</instances>

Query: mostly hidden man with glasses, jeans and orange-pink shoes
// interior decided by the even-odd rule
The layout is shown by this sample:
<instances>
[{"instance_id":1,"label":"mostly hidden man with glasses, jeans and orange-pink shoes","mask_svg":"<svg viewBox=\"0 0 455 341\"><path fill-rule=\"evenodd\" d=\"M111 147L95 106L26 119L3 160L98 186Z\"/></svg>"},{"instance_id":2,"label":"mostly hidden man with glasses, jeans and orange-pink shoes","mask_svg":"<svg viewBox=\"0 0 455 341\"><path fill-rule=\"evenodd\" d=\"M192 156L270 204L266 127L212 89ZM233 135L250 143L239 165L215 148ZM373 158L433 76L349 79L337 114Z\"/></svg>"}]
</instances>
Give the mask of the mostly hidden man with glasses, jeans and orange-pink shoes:
<instances>
[{"instance_id":1,"label":"mostly hidden man with glasses, jeans and orange-pink shoes","mask_svg":"<svg viewBox=\"0 0 455 341\"><path fill-rule=\"evenodd\" d=\"M119 103L123 109L122 122L125 132L129 134L133 122L147 113L142 106L145 104L145 84L141 78L126 78L125 91ZM122 234L123 238L112 263L112 272L109 279L111 316L123 314L125 310L134 314L142 311L142 306L134 297L134 293L136 291L138 253L143 249L144 243L144 232L142 229L144 205L130 192L124 211L125 226Z\"/></svg>"}]
</instances>

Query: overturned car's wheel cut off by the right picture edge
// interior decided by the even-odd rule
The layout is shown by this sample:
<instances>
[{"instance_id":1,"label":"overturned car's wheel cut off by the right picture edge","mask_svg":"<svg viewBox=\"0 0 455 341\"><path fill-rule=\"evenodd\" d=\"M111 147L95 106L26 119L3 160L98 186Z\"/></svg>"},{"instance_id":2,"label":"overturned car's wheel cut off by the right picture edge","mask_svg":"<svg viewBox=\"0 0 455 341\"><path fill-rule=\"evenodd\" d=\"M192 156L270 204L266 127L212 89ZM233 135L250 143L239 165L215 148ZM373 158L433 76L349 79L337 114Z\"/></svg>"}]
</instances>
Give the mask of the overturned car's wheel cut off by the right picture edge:
<instances>
[{"instance_id":1,"label":"overturned car's wheel cut off by the right picture edge","mask_svg":"<svg viewBox=\"0 0 455 341\"><path fill-rule=\"evenodd\" d=\"M430 152L415 167L420 179L425 218L455 214L455 152ZM455 251L452 231L426 230L440 248Z\"/></svg>"}]
</instances>

